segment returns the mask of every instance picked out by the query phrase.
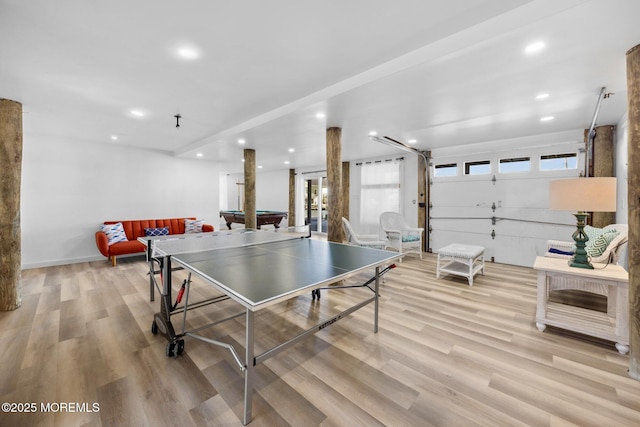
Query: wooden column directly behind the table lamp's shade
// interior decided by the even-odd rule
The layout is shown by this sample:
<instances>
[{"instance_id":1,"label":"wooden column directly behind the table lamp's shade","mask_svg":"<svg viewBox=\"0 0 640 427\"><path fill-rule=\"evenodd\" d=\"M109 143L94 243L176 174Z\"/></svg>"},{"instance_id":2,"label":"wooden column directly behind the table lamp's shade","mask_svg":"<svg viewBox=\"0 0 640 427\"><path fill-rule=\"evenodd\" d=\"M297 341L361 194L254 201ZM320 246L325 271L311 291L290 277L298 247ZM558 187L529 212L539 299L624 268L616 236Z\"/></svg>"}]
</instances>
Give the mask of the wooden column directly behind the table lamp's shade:
<instances>
[{"instance_id":1,"label":"wooden column directly behind the table lamp's shade","mask_svg":"<svg viewBox=\"0 0 640 427\"><path fill-rule=\"evenodd\" d=\"M615 126L598 126L593 141L593 173L594 177L615 176L613 170ZM588 130L587 130L588 132ZM605 227L616 222L615 212L593 212L591 225Z\"/></svg>"}]
</instances>

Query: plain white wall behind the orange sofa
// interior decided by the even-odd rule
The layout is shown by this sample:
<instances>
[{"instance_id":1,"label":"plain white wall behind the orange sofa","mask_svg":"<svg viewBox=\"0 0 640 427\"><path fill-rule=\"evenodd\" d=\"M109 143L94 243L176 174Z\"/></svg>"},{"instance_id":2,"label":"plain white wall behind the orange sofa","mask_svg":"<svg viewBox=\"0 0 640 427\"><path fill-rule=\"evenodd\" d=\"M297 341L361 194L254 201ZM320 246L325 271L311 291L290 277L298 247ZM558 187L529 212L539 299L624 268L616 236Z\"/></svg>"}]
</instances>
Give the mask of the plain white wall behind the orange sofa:
<instances>
[{"instance_id":1,"label":"plain white wall behind the orange sofa","mask_svg":"<svg viewBox=\"0 0 640 427\"><path fill-rule=\"evenodd\" d=\"M219 166L118 145L23 142L22 266L104 259L103 221L195 216L217 225Z\"/></svg>"}]
</instances>

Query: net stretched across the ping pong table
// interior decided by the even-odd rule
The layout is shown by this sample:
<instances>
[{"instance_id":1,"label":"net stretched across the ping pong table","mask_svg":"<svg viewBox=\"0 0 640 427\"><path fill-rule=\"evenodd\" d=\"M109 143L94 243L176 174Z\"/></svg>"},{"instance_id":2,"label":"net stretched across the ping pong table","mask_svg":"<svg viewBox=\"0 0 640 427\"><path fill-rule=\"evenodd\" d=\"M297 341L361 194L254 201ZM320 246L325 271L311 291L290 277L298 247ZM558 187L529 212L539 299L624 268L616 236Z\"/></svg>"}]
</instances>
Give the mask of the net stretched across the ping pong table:
<instances>
[{"instance_id":1,"label":"net stretched across the ping pong table","mask_svg":"<svg viewBox=\"0 0 640 427\"><path fill-rule=\"evenodd\" d=\"M275 230L237 229L209 233L168 235L154 239L151 256L167 256L231 249L309 237L309 226L281 227Z\"/></svg>"}]
</instances>

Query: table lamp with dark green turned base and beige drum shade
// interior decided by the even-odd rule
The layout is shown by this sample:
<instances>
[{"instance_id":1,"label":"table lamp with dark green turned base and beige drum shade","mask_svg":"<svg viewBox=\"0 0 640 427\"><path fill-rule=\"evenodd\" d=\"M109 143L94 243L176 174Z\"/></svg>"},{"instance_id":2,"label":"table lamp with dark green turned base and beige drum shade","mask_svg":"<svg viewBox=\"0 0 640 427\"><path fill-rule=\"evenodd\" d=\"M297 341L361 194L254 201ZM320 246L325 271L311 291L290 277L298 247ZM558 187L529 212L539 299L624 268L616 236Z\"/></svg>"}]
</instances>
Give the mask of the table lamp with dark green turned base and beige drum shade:
<instances>
[{"instance_id":1,"label":"table lamp with dark green turned base and beige drum shade","mask_svg":"<svg viewBox=\"0 0 640 427\"><path fill-rule=\"evenodd\" d=\"M585 246L589 237L584 232L588 212L616 211L616 178L572 178L549 183L549 208L573 211L577 230L573 233L576 252L569 261L571 267L593 268Z\"/></svg>"}]
</instances>

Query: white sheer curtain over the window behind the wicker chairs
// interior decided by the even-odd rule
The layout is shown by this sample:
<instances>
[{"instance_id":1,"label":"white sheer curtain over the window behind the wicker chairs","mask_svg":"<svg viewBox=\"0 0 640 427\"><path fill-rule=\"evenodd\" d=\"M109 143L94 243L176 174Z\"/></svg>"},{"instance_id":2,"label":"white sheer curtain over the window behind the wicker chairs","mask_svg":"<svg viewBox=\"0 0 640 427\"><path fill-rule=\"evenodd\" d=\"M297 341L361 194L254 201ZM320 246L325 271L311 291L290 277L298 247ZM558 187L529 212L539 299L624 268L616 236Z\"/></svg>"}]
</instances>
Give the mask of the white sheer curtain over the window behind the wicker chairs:
<instances>
[{"instance_id":1,"label":"white sheer curtain over the window behind the wicker chairs","mask_svg":"<svg viewBox=\"0 0 640 427\"><path fill-rule=\"evenodd\" d=\"M401 176L401 160L363 163L360 166L360 228L363 233L379 233L382 212L400 212Z\"/></svg>"}]
</instances>

